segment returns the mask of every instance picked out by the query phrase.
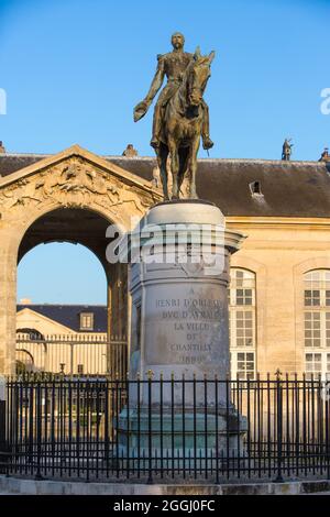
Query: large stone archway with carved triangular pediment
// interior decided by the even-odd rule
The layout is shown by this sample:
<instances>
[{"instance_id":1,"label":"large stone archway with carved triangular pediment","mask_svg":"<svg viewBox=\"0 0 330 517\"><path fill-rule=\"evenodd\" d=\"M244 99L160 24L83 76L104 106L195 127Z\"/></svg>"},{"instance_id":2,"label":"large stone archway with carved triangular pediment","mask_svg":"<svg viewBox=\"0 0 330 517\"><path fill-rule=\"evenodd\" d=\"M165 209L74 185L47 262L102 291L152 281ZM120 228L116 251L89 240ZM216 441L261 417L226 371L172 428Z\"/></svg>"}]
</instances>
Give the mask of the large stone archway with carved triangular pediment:
<instances>
[{"instance_id":1,"label":"large stone archway with carved triangular pediment","mask_svg":"<svg viewBox=\"0 0 330 517\"><path fill-rule=\"evenodd\" d=\"M109 278L109 324L121 322L121 329L112 330L123 333L128 314L125 268L112 265L110 274L102 249L106 241L88 237L88 228L103 231L114 223L124 233L131 229L132 219L141 219L157 200L160 195L153 191L151 182L77 145L0 179L0 373L14 372L18 261L38 242L62 235L63 240L87 243ZM70 234L69 226L61 229L66 217L75 219L81 211L90 219L85 219L80 235L78 227L76 234ZM42 228L46 220L53 221L53 233Z\"/></svg>"}]
</instances>

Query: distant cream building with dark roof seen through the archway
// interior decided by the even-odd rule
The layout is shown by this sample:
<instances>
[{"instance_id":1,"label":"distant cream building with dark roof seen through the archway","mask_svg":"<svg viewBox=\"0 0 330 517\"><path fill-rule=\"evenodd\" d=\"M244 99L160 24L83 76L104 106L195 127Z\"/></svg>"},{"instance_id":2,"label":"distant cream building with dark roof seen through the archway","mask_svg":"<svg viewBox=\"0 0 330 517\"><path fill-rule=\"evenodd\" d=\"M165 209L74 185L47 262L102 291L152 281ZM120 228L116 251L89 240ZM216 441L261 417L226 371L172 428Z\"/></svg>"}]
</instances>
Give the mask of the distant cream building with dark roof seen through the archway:
<instances>
[{"instance_id":1,"label":"distant cream building with dark roof seen through the archway","mask_svg":"<svg viewBox=\"0 0 330 517\"><path fill-rule=\"evenodd\" d=\"M18 305L16 370L76 374L106 374L108 343L106 306Z\"/></svg>"}]
</instances>

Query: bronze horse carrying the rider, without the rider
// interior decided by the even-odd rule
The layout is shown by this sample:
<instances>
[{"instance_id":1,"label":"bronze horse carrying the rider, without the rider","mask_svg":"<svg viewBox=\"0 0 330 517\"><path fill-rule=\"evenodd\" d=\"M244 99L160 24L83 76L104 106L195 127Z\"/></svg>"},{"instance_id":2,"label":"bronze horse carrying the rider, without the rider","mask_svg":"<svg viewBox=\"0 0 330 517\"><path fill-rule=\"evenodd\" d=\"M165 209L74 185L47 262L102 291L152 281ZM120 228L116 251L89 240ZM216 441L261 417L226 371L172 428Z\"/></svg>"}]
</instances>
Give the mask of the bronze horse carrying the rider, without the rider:
<instances>
[{"instance_id":1,"label":"bronze horse carrying the rider, without the rider","mask_svg":"<svg viewBox=\"0 0 330 517\"><path fill-rule=\"evenodd\" d=\"M211 75L215 52L201 56L196 50L183 82L164 108L161 144L156 150L163 183L164 198L179 199L185 175L188 177L188 196L196 199L197 154L200 145L204 111L202 96ZM166 161L170 154L173 176L172 196L168 195Z\"/></svg>"}]
</instances>

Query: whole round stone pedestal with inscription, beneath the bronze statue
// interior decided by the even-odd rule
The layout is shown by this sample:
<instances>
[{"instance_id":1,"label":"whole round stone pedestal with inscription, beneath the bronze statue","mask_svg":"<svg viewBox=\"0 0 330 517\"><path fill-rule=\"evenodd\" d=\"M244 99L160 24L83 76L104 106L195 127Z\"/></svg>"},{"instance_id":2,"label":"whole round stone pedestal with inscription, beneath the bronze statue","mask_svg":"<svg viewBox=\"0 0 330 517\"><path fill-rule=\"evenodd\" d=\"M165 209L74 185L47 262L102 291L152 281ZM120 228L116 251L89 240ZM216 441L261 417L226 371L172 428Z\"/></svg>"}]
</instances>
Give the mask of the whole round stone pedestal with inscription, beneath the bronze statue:
<instances>
[{"instance_id":1,"label":"whole round stone pedestal with inscription, beneath the bronze statue","mask_svg":"<svg viewBox=\"0 0 330 517\"><path fill-rule=\"evenodd\" d=\"M196 448L209 449L210 458L215 448L222 455L240 449L245 424L223 381L230 372L230 255L243 239L226 231L216 206L198 200L155 206L133 235L130 378L163 382L152 382L152 392L145 381L139 389L131 385L118 422L120 444L131 457L139 441L140 453L148 448L158 458L162 432L169 455L173 447L182 458L191 458Z\"/></svg>"}]
</instances>

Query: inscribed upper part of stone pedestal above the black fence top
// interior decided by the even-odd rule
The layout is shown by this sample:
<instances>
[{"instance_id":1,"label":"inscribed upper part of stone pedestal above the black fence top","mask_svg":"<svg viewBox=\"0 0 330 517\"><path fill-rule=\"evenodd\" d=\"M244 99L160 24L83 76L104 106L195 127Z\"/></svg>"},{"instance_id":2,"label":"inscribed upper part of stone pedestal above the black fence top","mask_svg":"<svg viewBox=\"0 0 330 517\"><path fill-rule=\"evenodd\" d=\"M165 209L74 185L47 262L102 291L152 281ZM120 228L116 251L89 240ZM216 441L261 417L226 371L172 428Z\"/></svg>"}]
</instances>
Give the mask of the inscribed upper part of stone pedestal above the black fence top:
<instances>
[{"instance_id":1,"label":"inscribed upper part of stone pedestal above the black fence top","mask_svg":"<svg viewBox=\"0 0 330 517\"><path fill-rule=\"evenodd\" d=\"M226 378L229 260L243 235L227 232L221 211L198 200L160 204L142 228L142 261L132 264L130 278L131 377L152 371L155 378Z\"/></svg>"}]
</instances>

